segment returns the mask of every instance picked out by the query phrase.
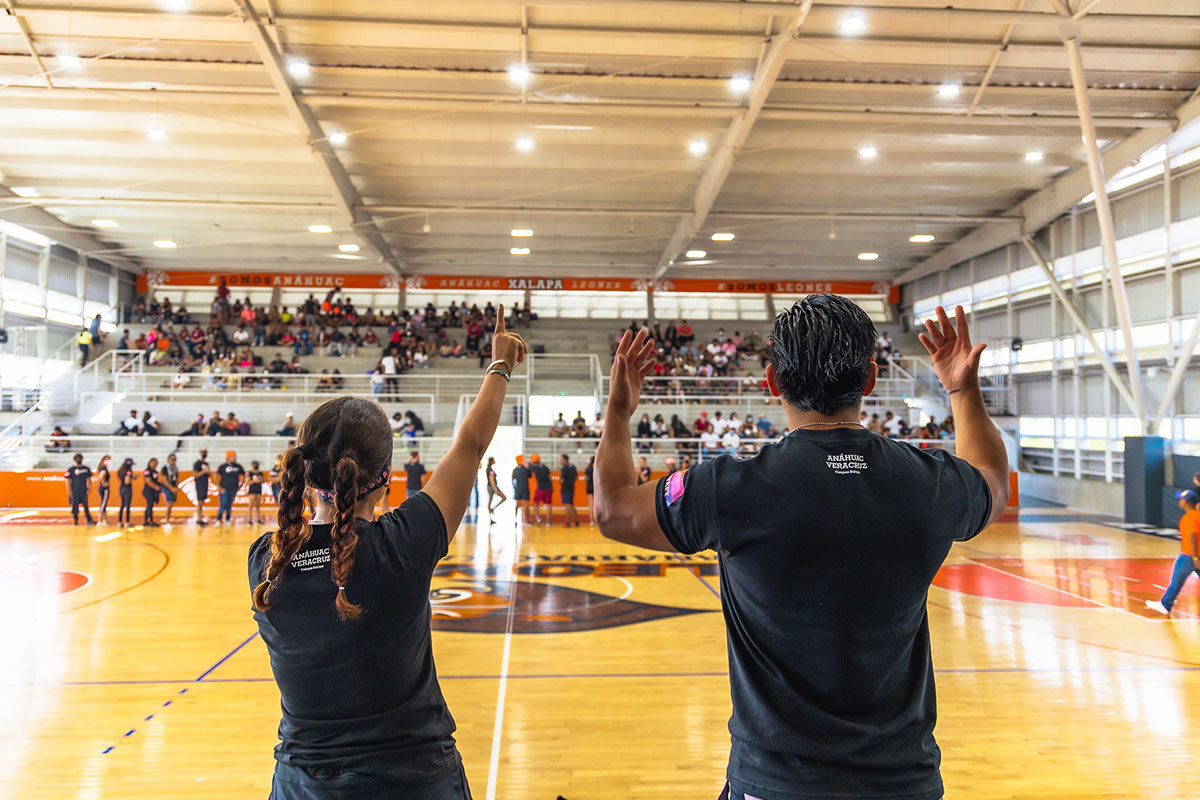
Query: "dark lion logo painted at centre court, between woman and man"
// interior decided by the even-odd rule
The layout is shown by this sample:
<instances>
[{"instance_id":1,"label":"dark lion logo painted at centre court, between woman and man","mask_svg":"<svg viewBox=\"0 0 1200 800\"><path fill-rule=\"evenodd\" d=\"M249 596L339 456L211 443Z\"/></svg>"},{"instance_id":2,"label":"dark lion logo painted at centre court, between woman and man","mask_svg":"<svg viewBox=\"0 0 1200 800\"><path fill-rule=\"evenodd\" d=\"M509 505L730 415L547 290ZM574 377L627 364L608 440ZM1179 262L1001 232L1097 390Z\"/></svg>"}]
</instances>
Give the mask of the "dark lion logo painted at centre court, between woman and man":
<instances>
[{"instance_id":1,"label":"dark lion logo painted at centre court, between woman and man","mask_svg":"<svg viewBox=\"0 0 1200 800\"><path fill-rule=\"evenodd\" d=\"M568 633L710 613L703 608L653 606L552 583L482 581L430 591L433 630L504 633Z\"/></svg>"}]
</instances>

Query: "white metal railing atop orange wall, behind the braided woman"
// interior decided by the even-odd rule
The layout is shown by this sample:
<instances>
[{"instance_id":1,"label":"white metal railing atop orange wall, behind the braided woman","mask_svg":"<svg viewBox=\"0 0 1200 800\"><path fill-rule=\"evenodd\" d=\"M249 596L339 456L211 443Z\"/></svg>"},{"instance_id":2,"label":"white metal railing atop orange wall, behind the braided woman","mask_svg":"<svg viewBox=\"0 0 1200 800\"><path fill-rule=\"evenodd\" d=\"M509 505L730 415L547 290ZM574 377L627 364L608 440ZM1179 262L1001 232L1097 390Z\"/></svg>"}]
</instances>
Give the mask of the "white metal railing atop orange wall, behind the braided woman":
<instances>
[{"instance_id":1,"label":"white metal railing atop orange wall, behind the braided woman","mask_svg":"<svg viewBox=\"0 0 1200 800\"><path fill-rule=\"evenodd\" d=\"M67 447L59 450L50 449L50 439L42 434L26 438L16 447L0 450L0 463L5 458L22 461L28 469L66 469L76 453L82 453L84 463L92 467L103 456L113 457L113 469L120 465L125 458L132 458L140 469L150 458L157 458L160 465L169 453L175 453L179 458L181 474L191 474L192 463L198 458L200 450L209 452L209 461L216 465L224 458L227 450L238 453L238 461L242 467L250 467L250 462L257 461L263 469L269 469L275 463L275 457L287 450L293 437L120 437L120 435L83 435L72 434L65 437L70 443ZM452 437L394 437L392 464L400 470L412 450L421 455L421 461L426 468L437 464L454 443Z\"/></svg>"}]
</instances>

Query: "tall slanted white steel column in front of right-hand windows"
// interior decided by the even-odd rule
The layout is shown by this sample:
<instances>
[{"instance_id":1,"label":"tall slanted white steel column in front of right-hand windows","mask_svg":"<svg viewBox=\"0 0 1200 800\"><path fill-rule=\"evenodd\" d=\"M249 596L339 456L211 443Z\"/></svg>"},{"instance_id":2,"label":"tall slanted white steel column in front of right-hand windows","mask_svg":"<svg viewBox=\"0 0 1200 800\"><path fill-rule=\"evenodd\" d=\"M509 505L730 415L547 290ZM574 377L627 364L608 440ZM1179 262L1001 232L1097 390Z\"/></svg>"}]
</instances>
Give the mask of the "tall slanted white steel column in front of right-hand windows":
<instances>
[{"instance_id":1,"label":"tall slanted white steel column in front of right-hand windows","mask_svg":"<svg viewBox=\"0 0 1200 800\"><path fill-rule=\"evenodd\" d=\"M1092 120L1092 107L1087 100L1087 77L1084 73L1084 56L1078 36L1063 40L1067 48L1070 80L1075 88L1075 107L1079 109L1079 127L1084 134L1084 149L1087 151L1087 173L1096 193L1096 217L1100 225L1100 242L1104 260L1109 264L1112 281L1112 305L1116 307L1117 321L1124 338L1126 367L1129 372L1129 389L1133 391L1135 414L1146 426L1146 409L1142 405L1141 363L1138 361L1138 347L1133 342L1133 314L1129 312L1129 297L1126 294L1124 276L1121 275L1121 261L1117 260L1117 234L1112 222L1112 206L1109 204L1109 191L1104 180L1104 164L1100 162L1100 146L1097 142L1096 124Z\"/></svg>"}]
</instances>

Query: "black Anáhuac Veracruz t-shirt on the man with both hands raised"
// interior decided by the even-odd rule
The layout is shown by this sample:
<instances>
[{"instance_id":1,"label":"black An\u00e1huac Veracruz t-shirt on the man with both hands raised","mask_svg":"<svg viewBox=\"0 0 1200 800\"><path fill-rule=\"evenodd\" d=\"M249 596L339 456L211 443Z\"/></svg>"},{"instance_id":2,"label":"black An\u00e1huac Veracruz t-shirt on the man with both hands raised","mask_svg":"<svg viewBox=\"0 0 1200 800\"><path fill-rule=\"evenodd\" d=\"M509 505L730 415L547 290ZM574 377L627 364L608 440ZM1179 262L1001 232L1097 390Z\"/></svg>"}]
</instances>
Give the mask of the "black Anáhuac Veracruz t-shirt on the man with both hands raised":
<instances>
[{"instance_id":1,"label":"black An\u00e1huac Veracruz t-shirt on the man with both hands raised","mask_svg":"<svg viewBox=\"0 0 1200 800\"><path fill-rule=\"evenodd\" d=\"M720 561L732 786L941 798L925 601L950 545L991 515L983 475L866 431L804 431L674 473L655 497L672 547Z\"/></svg>"}]
</instances>

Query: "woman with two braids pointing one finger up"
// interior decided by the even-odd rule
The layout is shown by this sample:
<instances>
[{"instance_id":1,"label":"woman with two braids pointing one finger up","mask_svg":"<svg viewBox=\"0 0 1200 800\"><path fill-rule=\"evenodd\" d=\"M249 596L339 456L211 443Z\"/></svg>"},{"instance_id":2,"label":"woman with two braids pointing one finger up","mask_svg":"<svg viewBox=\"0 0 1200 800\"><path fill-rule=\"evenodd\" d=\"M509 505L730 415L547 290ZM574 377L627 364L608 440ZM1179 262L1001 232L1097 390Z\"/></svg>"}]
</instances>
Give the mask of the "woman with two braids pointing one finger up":
<instances>
[{"instance_id":1,"label":"woman with two braids pointing one finger up","mask_svg":"<svg viewBox=\"0 0 1200 800\"><path fill-rule=\"evenodd\" d=\"M277 530L251 546L248 564L254 619L282 696L272 800L470 799L433 664L428 593L526 344L502 323L492 354L425 488L378 518L392 453L383 409L338 397L296 429L283 457Z\"/></svg>"}]
</instances>

